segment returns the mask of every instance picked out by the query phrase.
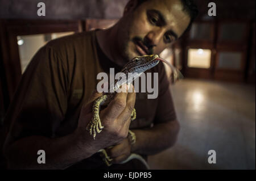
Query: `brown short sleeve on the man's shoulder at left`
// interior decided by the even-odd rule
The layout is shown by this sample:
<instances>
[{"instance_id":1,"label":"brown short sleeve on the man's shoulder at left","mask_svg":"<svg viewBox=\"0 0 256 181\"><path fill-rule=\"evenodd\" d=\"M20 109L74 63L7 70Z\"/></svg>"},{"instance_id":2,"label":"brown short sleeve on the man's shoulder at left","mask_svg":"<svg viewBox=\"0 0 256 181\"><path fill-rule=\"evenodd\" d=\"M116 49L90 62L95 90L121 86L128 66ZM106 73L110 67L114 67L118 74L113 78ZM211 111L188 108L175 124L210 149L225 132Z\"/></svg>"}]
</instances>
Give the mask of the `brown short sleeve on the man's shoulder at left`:
<instances>
[{"instance_id":1,"label":"brown short sleeve on the man's shoulder at left","mask_svg":"<svg viewBox=\"0 0 256 181\"><path fill-rule=\"evenodd\" d=\"M4 120L7 142L27 136L54 137L67 110L68 77L47 45L32 58Z\"/></svg>"}]
</instances>

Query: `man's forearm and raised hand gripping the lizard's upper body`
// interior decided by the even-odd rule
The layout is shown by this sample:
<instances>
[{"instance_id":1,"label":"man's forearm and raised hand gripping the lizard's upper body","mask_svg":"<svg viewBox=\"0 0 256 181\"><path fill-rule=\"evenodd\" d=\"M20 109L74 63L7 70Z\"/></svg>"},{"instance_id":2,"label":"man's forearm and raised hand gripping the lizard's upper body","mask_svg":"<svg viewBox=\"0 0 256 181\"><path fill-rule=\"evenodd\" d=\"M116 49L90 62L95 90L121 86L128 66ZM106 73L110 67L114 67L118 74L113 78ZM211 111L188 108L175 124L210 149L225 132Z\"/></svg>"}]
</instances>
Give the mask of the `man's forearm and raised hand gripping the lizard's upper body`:
<instances>
[{"instance_id":1,"label":"man's forearm and raised hand gripping the lizard's upper body","mask_svg":"<svg viewBox=\"0 0 256 181\"><path fill-rule=\"evenodd\" d=\"M4 153L10 169L65 169L83 159L91 157L98 150L116 145L127 137L130 115L135 103L135 93L121 92L109 106L102 110L100 118L104 129L96 140L86 125L92 119L92 102L101 96L95 92L86 106L81 108L78 127L72 134L48 138L28 136L5 144ZM29 149L28 149L29 148ZM46 151L46 164L38 164L38 150Z\"/></svg>"}]
</instances>

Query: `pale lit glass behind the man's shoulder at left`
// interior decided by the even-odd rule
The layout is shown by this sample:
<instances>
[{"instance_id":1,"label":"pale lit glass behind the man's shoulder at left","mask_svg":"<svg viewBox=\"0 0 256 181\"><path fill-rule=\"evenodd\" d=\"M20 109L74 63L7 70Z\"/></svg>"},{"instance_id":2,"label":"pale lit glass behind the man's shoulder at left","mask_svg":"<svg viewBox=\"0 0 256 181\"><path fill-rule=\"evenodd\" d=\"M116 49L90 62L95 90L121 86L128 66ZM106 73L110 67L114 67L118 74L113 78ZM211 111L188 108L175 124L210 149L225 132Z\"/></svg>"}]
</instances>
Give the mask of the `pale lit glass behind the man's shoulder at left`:
<instances>
[{"instance_id":1,"label":"pale lit glass behind the man's shoulder at left","mask_svg":"<svg viewBox=\"0 0 256 181\"><path fill-rule=\"evenodd\" d=\"M30 63L31 58L38 51L39 48L43 47L49 40L56 39L58 37L71 35L74 32L60 32L60 33L49 33L49 34L38 34L38 35L24 35L17 36L19 45L19 58L22 73Z\"/></svg>"}]
</instances>

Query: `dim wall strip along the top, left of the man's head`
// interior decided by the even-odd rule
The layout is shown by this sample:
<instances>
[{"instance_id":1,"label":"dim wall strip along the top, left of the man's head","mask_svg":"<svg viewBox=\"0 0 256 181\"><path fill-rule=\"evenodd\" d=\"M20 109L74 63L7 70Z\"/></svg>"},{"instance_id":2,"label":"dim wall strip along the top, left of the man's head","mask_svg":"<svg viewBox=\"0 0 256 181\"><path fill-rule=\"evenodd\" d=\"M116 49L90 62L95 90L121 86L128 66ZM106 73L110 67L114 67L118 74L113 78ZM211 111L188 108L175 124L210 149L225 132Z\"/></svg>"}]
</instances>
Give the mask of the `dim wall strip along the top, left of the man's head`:
<instances>
[{"instance_id":1,"label":"dim wall strip along the top, left of the man's head","mask_svg":"<svg viewBox=\"0 0 256 181\"><path fill-rule=\"evenodd\" d=\"M46 4L44 19L120 18L128 0L0 0L0 18L37 19L38 2Z\"/></svg>"}]
</instances>

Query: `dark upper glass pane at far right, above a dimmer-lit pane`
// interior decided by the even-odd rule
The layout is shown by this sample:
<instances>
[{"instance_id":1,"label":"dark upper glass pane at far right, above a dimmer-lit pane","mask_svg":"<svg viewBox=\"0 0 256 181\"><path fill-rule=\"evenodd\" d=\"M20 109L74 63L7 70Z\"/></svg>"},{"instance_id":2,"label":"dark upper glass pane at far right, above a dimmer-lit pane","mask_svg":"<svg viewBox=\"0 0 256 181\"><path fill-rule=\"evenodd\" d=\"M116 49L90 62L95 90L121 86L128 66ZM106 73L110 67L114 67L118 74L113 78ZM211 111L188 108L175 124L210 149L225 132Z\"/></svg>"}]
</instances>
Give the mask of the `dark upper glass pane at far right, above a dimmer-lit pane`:
<instances>
[{"instance_id":1,"label":"dark upper glass pane at far right, above a dimmer-lit pane","mask_svg":"<svg viewBox=\"0 0 256 181\"><path fill-rule=\"evenodd\" d=\"M228 23L222 24L220 31L220 39L228 41L241 41L245 34L245 24Z\"/></svg>"}]
</instances>

